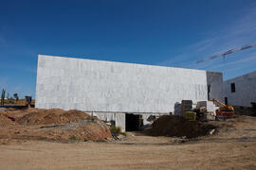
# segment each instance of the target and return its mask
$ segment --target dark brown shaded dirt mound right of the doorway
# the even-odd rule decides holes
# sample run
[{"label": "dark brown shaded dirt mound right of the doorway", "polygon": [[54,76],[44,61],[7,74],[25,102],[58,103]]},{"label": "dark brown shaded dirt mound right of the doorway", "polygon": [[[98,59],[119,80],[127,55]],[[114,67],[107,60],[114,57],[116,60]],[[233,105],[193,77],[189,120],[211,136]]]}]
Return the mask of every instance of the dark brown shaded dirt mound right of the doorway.
[{"label": "dark brown shaded dirt mound right of the doorway", "polygon": [[195,138],[207,135],[213,128],[216,127],[207,123],[192,122],[183,117],[164,115],[156,119],[146,133],[153,136]]}]

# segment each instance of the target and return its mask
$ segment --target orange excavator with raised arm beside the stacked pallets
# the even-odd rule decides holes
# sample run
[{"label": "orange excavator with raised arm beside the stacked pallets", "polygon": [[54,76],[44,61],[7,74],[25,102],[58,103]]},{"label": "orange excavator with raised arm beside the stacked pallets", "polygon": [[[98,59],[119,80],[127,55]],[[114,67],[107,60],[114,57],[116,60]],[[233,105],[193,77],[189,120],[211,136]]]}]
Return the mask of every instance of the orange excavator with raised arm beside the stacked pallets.
[{"label": "orange excavator with raised arm beside the stacked pallets", "polygon": [[217,119],[227,119],[231,118],[234,115],[234,108],[232,106],[225,105],[219,100],[216,100],[214,98],[211,99],[211,101],[219,106],[219,109],[216,111],[216,118]]}]

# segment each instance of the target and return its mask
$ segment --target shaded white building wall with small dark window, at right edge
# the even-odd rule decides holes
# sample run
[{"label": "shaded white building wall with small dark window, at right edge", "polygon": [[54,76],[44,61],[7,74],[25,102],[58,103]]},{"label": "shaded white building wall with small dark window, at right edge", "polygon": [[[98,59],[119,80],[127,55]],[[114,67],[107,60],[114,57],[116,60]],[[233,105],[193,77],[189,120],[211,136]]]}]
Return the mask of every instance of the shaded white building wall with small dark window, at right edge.
[{"label": "shaded white building wall with small dark window, at right edge", "polygon": [[[235,93],[231,93],[231,83],[235,83]],[[250,107],[250,102],[256,102],[256,72],[229,79],[223,87],[224,97],[228,97],[231,106]]]}]

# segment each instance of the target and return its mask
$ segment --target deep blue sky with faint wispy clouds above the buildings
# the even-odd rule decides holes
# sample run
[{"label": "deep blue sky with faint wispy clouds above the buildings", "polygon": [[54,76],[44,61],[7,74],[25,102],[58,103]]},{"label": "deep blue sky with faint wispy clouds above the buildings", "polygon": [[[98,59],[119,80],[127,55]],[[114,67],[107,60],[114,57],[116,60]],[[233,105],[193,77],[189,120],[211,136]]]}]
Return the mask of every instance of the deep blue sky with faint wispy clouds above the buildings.
[{"label": "deep blue sky with faint wispy clouds above the buildings", "polygon": [[223,72],[256,70],[255,0],[0,0],[0,89],[35,95],[37,55]]}]

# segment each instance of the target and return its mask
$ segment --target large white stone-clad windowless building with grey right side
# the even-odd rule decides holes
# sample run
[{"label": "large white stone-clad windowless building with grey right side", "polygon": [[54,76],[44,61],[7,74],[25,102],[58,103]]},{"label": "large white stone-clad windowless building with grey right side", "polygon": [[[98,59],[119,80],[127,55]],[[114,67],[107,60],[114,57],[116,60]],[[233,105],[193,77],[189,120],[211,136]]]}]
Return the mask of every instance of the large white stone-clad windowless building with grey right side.
[{"label": "large white stone-clad windowless building with grey right side", "polygon": [[203,70],[39,55],[35,107],[84,110],[125,130],[135,115],[146,123],[184,99],[222,98],[222,79]]}]

